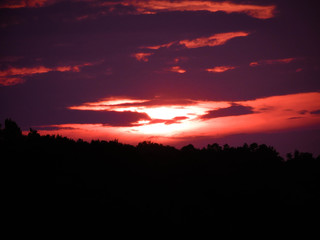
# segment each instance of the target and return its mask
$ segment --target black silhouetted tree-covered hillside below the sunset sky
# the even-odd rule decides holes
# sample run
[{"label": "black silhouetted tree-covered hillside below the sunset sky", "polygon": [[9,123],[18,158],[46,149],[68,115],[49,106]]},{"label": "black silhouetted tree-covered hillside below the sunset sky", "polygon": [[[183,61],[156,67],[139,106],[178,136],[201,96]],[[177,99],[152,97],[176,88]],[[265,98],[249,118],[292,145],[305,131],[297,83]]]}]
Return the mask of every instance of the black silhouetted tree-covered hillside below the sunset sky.
[{"label": "black silhouetted tree-covered hillside below the sunset sky", "polygon": [[157,228],[155,235],[167,228],[225,234],[319,229],[320,157],[310,153],[283,159],[255,143],[178,150],[151,142],[74,141],[32,129],[25,136],[10,119],[0,129],[0,150],[12,223],[56,230],[76,225],[77,231]]}]

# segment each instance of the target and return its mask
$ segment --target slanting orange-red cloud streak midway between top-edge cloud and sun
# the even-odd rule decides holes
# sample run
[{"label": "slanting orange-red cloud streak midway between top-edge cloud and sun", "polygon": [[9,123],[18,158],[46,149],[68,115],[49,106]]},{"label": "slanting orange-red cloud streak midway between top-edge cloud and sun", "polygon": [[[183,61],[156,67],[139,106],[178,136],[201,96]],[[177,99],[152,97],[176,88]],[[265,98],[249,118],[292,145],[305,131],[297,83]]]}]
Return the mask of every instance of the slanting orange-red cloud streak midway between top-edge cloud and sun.
[{"label": "slanting orange-red cloud streak midway between top-edge cloud and sun", "polygon": [[174,41],[166,44],[155,45],[155,46],[147,46],[142,48],[148,49],[159,49],[159,48],[169,48],[171,46],[183,46],[186,48],[200,48],[200,47],[214,47],[224,45],[229,40],[236,38],[236,37],[246,37],[250,33],[248,32],[226,32],[226,33],[217,33],[211,35],[209,37],[201,37],[192,40],[181,40],[181,41]]}]

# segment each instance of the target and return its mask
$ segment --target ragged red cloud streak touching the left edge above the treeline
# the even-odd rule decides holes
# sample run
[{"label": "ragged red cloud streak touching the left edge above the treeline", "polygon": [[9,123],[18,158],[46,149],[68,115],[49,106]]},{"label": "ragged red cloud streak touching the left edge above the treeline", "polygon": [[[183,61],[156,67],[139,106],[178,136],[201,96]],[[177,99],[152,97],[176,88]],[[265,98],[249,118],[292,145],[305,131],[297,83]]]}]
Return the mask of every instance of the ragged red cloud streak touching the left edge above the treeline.
[{"label": "ragged red cloud streak touching the left edge above the treeline", "polygon": [[0,71],[0,85],[2,86],[12,86],[25,82],[23,77],[43,74],[48,72],[79,72],[80,68],[85,66],[91,66],[92,63],[84,63],[74,66],[58,66],[55,68],[48,68],[44,66],[37,66],[31,68],[15,68],[9,67],[8,69]]}]

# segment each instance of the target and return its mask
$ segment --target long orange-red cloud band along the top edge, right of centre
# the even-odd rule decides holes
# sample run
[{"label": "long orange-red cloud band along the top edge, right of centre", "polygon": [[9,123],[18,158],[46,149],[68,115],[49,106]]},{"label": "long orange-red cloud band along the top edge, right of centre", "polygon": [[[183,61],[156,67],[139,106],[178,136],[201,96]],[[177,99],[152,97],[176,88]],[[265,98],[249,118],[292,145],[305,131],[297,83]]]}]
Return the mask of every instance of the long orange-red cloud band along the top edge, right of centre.
[{"label": "long orange-red cloud band along the top edge, right of centre", "polygon": [[122,6],[135,8],[137,14],[155,14],[172,11],[208,11],[225,13],[244,13],[253,18],[269,19],[274,17],[275,5],[239,4],[231,1],[215,2],[208,0],[123,0],[102,2],[100,6]]}]

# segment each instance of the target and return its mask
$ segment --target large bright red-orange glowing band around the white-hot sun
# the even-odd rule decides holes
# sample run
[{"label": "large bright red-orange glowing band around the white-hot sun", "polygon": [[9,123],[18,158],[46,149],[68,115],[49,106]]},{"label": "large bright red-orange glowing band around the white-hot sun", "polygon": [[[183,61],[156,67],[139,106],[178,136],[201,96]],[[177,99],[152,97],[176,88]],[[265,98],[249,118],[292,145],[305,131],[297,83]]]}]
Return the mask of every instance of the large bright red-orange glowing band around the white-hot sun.
[{"label": "large bright red-orange glowing band around the white-hot sun", "polygon": [[[97,102],[72,106],[73,110],[116,111],[145,113],[150,120],[141,120],[130,126],[103,124],[63,124],[61,129],[43,130],[43,134],[62,134],[73,138],[114,139],[137,143],[155,140],[172,143],[196,136],[227,136],[240,133],[266,133],[320,124],[320,93],[299,93],[272,96],[237,102],[186,100],[185,104],[151,104],[152,100],[108,98]],[[243,106],[251,113],[204,118],[210,111]],[[302,114],[303,113],[303,114]]]}]

